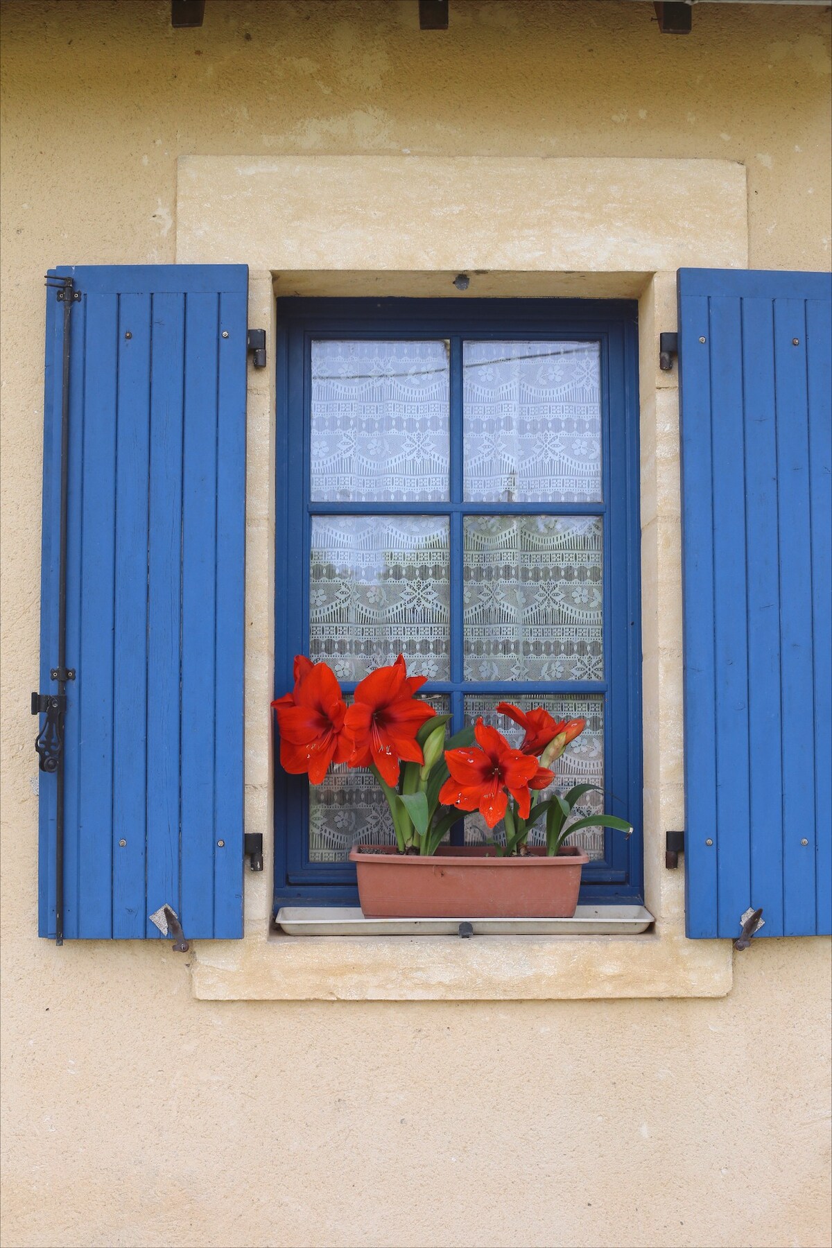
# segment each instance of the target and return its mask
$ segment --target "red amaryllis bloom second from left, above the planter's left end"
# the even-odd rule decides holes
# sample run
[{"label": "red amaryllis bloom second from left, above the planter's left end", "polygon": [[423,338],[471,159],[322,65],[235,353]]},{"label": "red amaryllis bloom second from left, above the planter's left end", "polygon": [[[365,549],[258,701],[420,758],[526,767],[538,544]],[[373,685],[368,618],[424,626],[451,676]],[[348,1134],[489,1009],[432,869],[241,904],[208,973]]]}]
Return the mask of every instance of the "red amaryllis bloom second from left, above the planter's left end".
[{"label": "red amaryllis bloom second from left, above the planter's left end", "polygon": [[374,763],[382,778],[394,787],[399,763],[424,763],[417,733],[435,715],[433,706],[414,698],[427,676],[408,676],[404,658],[389,668],[377,668],[356,686],[346,726],[354,741],[352,768]]}]

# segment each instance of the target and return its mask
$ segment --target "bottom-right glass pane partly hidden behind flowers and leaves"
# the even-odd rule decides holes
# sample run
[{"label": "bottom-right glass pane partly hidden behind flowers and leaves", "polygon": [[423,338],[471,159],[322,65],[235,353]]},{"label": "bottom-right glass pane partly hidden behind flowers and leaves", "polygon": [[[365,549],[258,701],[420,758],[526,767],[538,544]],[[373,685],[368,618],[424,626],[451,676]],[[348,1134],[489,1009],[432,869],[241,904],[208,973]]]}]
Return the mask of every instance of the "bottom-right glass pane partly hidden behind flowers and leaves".
[{"label": "bottom-right glass pane partly hidden behind flowers and leaves", "polygon": [[[596,784],[604,787],[604,698],[601,695],[586,694],[515,694],[505,695],[483,694],[465,698],[465,723],[475,724],[478,718],[493,724],[511,745],[519,748],[523,740],[523,729],[508,719],[498,715],[494,708],[499,701],[510,701],[520,710],[530,710],[533,706],[545,706],[555,719],[585,719],[586,728],[563,753],[555,765],[556,780],[554,790],[546,789],[541,794],[545,801],[553,791],[566,792],[576,784]],[[607,807],[609,809],[609,807]],[[600,815],[604,810],[604,795],[600,792],[588,792],[579,801],[573,812],[570,822],[584,819],[585,815]],[[505,840],[505,829],[498,824],[493,832],[485,825],[485,820],[478,815],[465,817],[465,841],[470,845],[479,845],[484,840]],[[545,845],[545,821],[541,816],[540,825],[535,825],[529,832],[530,845]],[[585,849],[590,859],[604,857],[604,829],[584,827],[575,832],[569,840],[570,845],[580,845]]]}]

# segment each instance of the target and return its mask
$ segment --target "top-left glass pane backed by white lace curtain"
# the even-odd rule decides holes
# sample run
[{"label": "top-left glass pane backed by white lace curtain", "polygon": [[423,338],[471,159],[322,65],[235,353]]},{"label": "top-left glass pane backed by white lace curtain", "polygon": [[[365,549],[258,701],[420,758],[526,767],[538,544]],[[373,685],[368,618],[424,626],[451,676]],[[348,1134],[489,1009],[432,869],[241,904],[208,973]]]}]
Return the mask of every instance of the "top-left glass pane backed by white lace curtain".
[{"label": "top-left glass pane backed by white lace curtain", "polygon": [[448,494],[447,342],[312,343],[312,498]]}]

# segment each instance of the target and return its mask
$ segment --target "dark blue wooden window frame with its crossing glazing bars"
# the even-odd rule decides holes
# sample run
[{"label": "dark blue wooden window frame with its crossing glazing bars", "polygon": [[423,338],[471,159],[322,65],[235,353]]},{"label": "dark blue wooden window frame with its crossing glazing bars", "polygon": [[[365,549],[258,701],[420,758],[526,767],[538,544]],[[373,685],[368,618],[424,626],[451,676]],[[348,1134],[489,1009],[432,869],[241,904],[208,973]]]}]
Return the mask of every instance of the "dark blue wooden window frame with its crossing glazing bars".
[{"label": "dark blue wooden window frame with its crossing glazing bars", "polygon": [[[573,300],[313,300],[278,301],[276,695],[292,686],[292,660],[309,653],[309,560],[313,524],[326,517],[444,518],[449,553],[449,679],[425,695],[444,695],[452,730],[464,723],[464,699],[491,695],[584,695],[602,705],[604,809],[625,815],[634,835],[605,830],[602,849],[584,869],[583,902],[632,902],[642,896],[641,624],[639,590],[637,305]],[[333,342],[437,342],[449,357],[449,497],[433,502],[316,502],[311,489],[312,349]],[[600,497],[590,502],[465,500],[464,343],[596,343],[600,363]],[[469,490],[470,493],[470,490]],[[476,517],[599,519],[602,666],[593,679],[465,680],[463,532]],[[407,654],[407,645],[404,646]],[[419,664],[410,661],[417,673]],[[574,673],[573,673],[574,674]],[[342,679],[347,694],[356,681]],[[276,743],[277,749],[277,743]],[[314,861],[309,852],[309,787],[274,760],[274,901],[357,905],[354,867]],[[454,840],[462,836],[462,827]]]}]

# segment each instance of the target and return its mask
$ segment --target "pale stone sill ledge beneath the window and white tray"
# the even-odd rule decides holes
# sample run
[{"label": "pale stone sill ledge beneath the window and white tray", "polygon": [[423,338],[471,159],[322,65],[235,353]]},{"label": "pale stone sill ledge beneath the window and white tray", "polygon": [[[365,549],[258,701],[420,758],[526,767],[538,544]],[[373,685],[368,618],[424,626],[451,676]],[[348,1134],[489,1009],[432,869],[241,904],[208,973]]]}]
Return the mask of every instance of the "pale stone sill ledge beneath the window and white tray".
[{"label": "pale stone sill ledge beneath the window and white tray", "polygon": [[203,1001],[550,1001],[721,997],[730,941],[640,936],[287,936],[253,924],[242,941],[193,946]]}]

